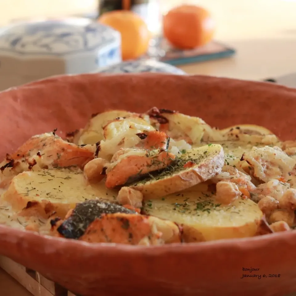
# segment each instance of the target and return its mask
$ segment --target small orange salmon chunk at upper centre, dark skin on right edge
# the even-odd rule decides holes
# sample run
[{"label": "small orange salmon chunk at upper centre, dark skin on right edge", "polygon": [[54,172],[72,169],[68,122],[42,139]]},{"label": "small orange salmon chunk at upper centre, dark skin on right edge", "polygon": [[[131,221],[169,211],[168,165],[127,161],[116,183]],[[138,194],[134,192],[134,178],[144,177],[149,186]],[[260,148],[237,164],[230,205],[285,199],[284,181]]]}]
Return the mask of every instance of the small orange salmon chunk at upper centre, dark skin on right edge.
[{"label": "small orange salmon chunk at upper centre, dark skin on right edge", "polygon": [[136,147],[143,149],[167,150],[170,143],[170,137],[165,132],[159,132],[158,130],[144,131],[143,133],[136,134],[143,141],[139,142]]}]

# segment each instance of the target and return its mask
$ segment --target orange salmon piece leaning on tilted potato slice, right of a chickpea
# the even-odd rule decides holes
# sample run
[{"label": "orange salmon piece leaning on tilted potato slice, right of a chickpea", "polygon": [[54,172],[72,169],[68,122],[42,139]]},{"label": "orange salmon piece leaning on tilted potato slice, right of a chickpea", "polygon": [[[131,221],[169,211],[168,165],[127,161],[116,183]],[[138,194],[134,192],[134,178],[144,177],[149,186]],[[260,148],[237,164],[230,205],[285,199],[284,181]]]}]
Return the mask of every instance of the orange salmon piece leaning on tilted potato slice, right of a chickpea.
[{"label": "orange salmon piece leaning on tilted potato slice, right of a chickpea", "polygon": [[112,164],[105,185],[107,188],[123,185],[135,177],[166,168],[174,159],[175,154],[164,150],[128,149]]}]

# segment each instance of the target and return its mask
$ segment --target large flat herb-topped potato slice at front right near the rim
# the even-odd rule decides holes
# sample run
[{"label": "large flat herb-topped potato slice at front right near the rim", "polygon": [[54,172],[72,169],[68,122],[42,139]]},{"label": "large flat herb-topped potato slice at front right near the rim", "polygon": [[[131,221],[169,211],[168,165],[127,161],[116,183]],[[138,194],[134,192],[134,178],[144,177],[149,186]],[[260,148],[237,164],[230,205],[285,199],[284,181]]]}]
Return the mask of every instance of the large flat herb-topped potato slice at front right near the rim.
[{"label": "large flat herb-topped potato slice at front right near the rim", "polygon": [[144,211],[181,225],[185,242],[254,236],[263,217],[257,204],[250,199],[222,205],[206,191],[182,191],[147,200]]}]

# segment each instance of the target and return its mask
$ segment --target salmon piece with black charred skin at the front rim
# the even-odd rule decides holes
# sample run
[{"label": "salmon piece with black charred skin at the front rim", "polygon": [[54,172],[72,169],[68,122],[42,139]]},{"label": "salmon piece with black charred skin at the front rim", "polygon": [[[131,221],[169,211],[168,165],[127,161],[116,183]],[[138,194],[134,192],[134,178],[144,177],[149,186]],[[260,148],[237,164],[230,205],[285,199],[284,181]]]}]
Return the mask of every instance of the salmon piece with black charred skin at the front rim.
[{"label": "salmon piece with black charred skin at the front rim", "polygon": [[139,215],[132,209],[88,200],[70,210],[65,220],[51,220],[51,235],[91,243],[162,245],[181,241],[179,227],[156,217]]}]

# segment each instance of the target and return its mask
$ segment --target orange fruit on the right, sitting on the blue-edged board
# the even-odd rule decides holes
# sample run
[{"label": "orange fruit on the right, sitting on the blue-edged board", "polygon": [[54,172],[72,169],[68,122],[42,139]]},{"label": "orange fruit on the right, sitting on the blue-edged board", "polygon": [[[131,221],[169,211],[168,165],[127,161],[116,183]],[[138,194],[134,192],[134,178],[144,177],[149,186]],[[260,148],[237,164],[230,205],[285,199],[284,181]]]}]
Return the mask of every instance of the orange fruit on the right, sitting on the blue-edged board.
[{"label": "orange fruit on the right, sitting on the blue-edged board", "polygon": [[192,49],[212,40],[215,23],[210,13],[200,6],[181,5],[163,17],[163,35],[180,49]]}]

